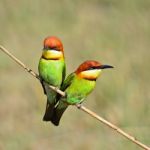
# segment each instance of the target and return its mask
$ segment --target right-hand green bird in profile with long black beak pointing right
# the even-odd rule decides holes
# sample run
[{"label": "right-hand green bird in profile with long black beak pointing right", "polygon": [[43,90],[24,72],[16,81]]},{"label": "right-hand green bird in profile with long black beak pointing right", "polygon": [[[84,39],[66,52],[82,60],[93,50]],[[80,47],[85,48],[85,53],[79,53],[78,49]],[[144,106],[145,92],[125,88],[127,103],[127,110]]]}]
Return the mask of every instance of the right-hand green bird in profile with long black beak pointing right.
[{"label": "right-hand green bird in profile with long black beak pointing right", "polygon": [[66,96],[59,98],[51,118],[51,122],[55,126],[59,125],[60,119],[69,105],[80,104],[85,100],[93,91],[102,70],[107,68],[113,68],[113,66],[103,65],[95,60],[87,60],[65,79],[61,90],[66,93]]}]

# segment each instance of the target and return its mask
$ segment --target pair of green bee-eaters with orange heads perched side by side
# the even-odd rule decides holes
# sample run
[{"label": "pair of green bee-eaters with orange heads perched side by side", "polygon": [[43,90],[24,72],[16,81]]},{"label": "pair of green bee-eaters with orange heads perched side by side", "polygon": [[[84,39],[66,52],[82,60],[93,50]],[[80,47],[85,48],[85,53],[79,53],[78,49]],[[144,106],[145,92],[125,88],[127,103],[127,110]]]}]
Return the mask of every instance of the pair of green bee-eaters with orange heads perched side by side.
[{"label": "pair of green bee-eaters with orange heads perched side by side", "polygon": [[[45,38],[38,66],[44,93],[47,95],[43,120],[51,121],[58,126],[67,107],[81,103],[94,89],[96,79],[101,74],[102,69],[106,68],[113,67],[94,60],[87,60],[65,79],[66,65],[63,44],[57,37]],[[60,88],[66,93],[66,96],[61,97],[47,84],[43,84],[43,81]]]}]

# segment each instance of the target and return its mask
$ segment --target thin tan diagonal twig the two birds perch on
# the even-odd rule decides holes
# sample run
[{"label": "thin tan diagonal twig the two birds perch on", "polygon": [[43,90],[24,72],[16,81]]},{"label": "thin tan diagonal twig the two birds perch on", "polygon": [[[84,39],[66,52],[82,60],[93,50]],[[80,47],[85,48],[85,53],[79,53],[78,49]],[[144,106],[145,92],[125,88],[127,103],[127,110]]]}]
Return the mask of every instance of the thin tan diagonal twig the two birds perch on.
[{"label": "thin tan diagonal twig the two birds perch on", "polygon": [[[6,48],[4,48],[3,46],[0,45],[0,49],[7,54],[10,58],[12,58],[14,61],[16,61],[16,63],[18,63],[21,67],[23,67],[27,72],[29,72],[32,76],[34,76],[35,78],[37,78],[38,80],[40,80],[40,77],[38,74],[36,74],[33,70],[31,70],[30,68],[28,68],[24,63],[22,63],[19,59],[17,59],[14,55],[12,55]],[[46,83],[45,83],[46,84]],[[59,93],[62,96],[65,96],[65,92],[59,90],[57,87],[51,86],[49,85],[49,87],[56,91],[57,93]],[[125,131],[123,131],[122,129],[120,129],[119,127],[115,126],[114,124],[112,124],[111,122],[105,120],[104,118],[100,117],[99,115],[97,115],[96,113],[94,113],[93,111],[91,111],[90,109],[86,108],[85,106],[81,105],[81,104],[76,104],[75,105],[78,109],[84,111],[85,113],[89,114],[90,116],[92,116],[93,118],[97,119],[98,121],[102,122],[104,125],[107,125],[109,128],[115,130],[116,132],[118,132],[120,135],[124,136],[125,138],[127,138],[128,140],[132,141],[133,143],[135,143],[136,145],[138,145],[139,147],[145,149],[145,150],[150,150],[150,147],[141,143],[139,140],[137,140],[135,137],[133,137],[132,135],[129,135],[128,133],[126,133]]]}]

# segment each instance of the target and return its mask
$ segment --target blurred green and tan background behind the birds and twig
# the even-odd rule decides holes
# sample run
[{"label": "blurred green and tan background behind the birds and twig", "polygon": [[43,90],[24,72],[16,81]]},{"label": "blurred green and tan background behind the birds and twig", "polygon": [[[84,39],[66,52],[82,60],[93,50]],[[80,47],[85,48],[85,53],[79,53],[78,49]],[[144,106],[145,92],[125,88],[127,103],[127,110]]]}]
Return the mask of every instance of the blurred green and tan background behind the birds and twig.
[{"label": "blurred green and tan background behind the birds and twig", "polygon": [[[84,60],[104,71],[85,106],[150,145],[149,0],[1,0],[0,44],[37,72],[43,39],[64,43],[67,73]],[[137,150],[70,106],[60,126],[42,121],[41,85],[0,52],[0,150]]]}]

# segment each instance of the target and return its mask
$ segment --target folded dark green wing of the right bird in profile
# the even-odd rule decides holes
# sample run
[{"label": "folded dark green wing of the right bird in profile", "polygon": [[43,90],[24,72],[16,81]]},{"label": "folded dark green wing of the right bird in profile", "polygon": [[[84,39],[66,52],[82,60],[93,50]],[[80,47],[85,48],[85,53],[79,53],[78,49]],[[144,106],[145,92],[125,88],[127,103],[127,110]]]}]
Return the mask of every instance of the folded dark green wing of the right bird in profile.
[{"label": "folded dark green wing of the right bird in profile", "polygon": [[72,83],[73,79],[75,77],[75,73],[71,73],[66,80],[63,82],[62,86],[61,86],[61,90],[65,91],[65,89]]}]

